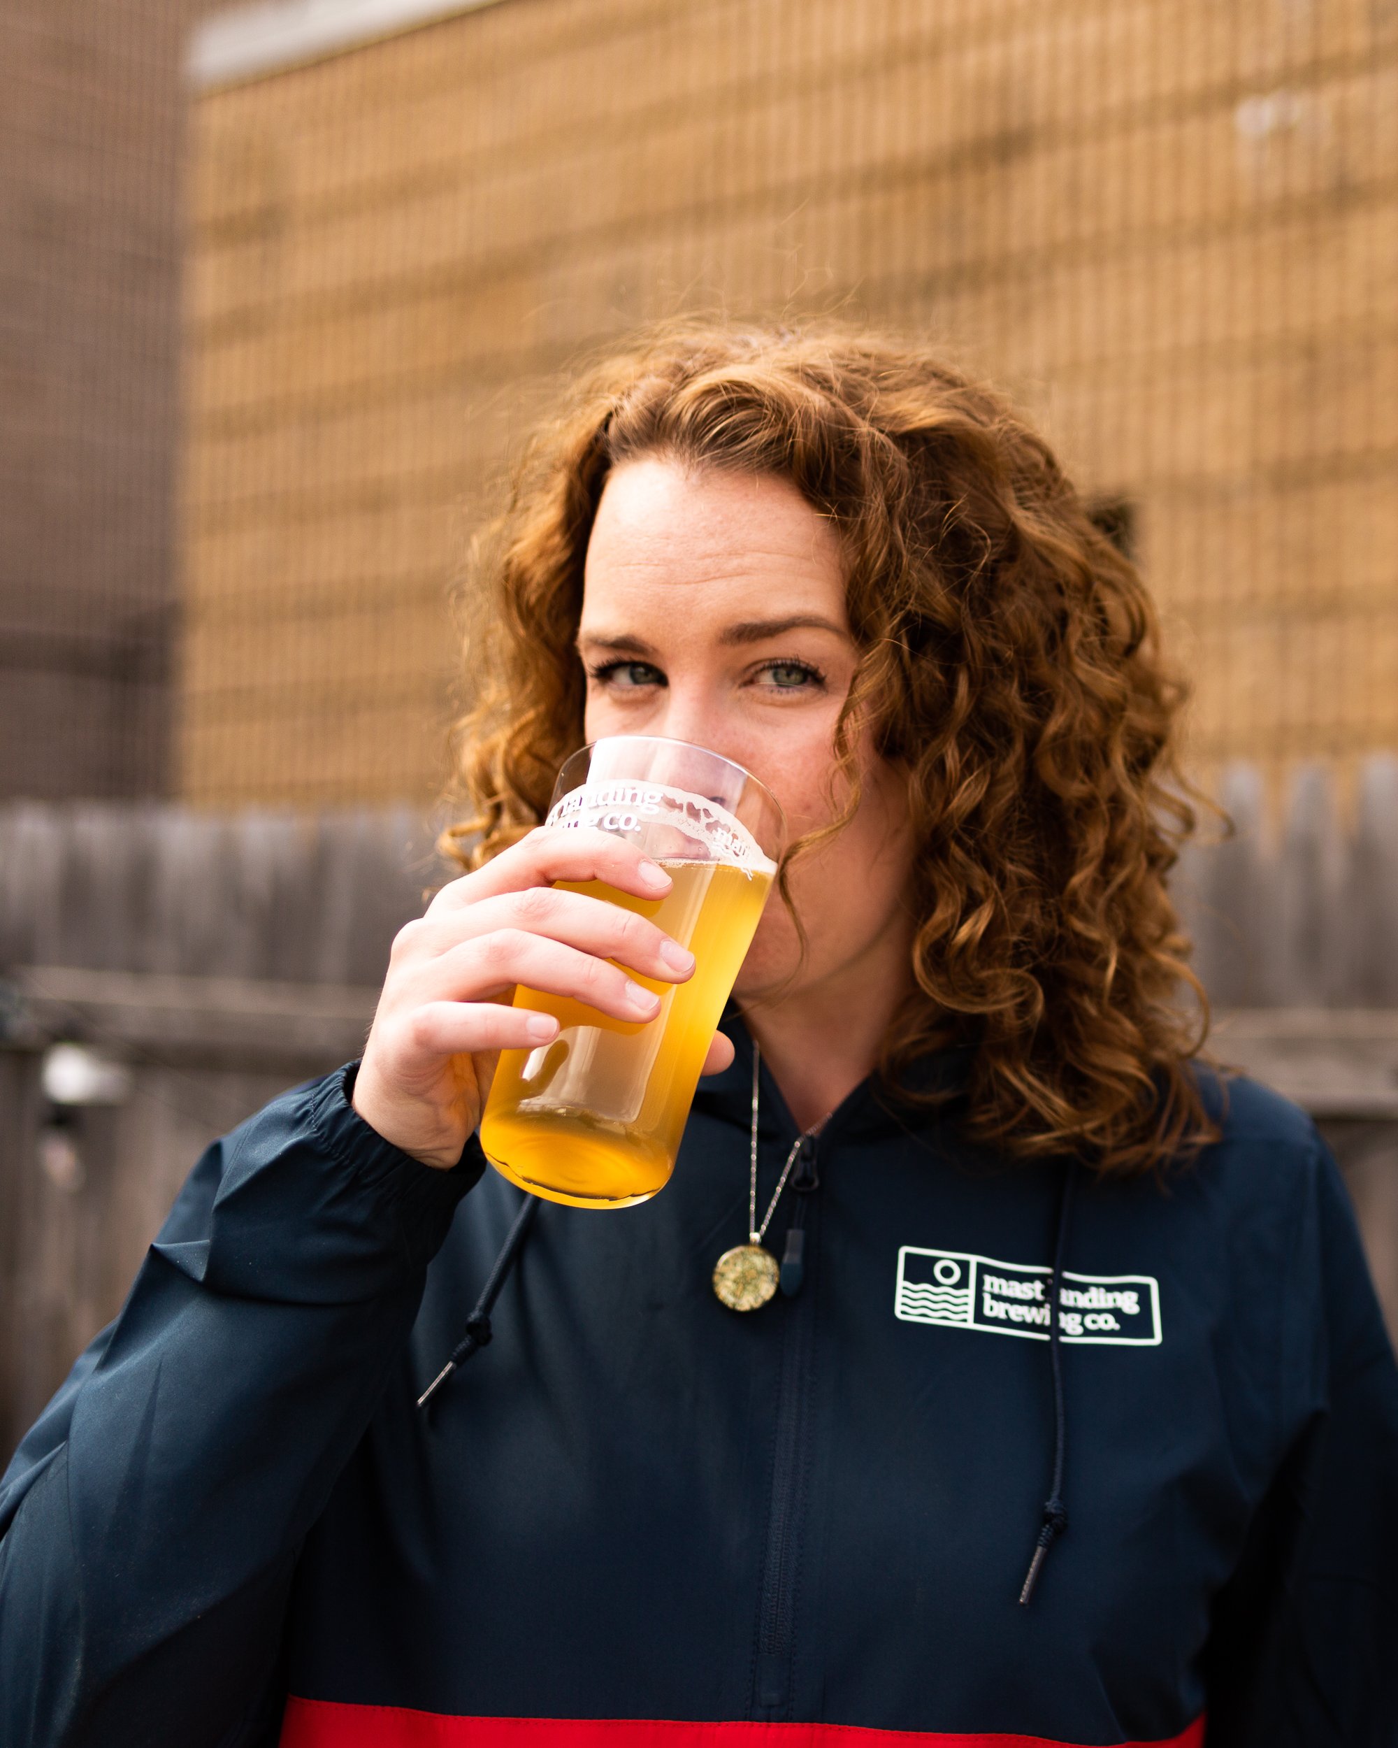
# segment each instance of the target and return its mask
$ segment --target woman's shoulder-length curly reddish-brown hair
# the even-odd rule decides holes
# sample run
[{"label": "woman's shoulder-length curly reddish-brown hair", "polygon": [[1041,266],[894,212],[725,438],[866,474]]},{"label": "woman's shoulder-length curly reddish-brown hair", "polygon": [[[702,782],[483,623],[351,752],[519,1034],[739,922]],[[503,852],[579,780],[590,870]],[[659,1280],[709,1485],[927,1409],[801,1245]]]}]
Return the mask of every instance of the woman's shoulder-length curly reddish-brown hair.
[{"label": "woman's shoulder-length curly reddish-brown hair", "polygon": [[[1146,1169],[1215,1138],[1190,1058],[1208,1005],[1166,876],[1194,829],[1181,683],[1146,589],[1010,404],[916,344],[683,323],[587,371],[529,446],[482,549],[482,690],[458,724],[465,865],[514,843],[582,745],[573,647],[608,472],[643,454],[788,479],[839,528],[853,724],[907,773],[923,895],[893,1087],[970,1042],[966,1133],[1017,1157]],[[474,640],[472,640],[474,642]],[[1190,1019],[1181,986],[1195,996]]]}]

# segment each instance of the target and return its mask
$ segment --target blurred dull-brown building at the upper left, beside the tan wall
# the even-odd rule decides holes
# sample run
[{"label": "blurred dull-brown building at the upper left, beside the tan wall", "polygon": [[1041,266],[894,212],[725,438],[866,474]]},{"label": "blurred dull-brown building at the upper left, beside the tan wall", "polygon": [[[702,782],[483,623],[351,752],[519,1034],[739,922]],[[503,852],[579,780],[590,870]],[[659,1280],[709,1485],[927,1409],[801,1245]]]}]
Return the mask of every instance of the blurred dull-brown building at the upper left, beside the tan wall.
[{"label": "blurred dull-brown building at the upper left, beside the tan wall", "polygon": [[171,778],[199,0],[0,10],[0,797]]}]

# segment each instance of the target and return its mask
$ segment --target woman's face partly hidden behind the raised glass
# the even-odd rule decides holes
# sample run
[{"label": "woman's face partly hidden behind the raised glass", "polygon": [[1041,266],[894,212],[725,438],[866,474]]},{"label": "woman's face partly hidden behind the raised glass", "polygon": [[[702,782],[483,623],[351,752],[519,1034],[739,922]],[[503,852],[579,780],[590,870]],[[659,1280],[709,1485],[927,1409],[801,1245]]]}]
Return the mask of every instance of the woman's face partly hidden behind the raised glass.
[{"label": "woman's face partly hidden behind the raised glass", "polygon": [[[587,545],[578,654],[589,741],[666,734],[709,746],[762,778],[792,837],[834,816],[835,718],[856,649],[839,538],[795,486],[659,456],[615,468]],[[856,745],[858,813],[792,869],[809,951],[783,995],[839,984],[888,956],[889,932],[910,937],[905,787],[867,734]],[[771,902],[737,995],[760,1000],[797,960],[795,928]]]}]

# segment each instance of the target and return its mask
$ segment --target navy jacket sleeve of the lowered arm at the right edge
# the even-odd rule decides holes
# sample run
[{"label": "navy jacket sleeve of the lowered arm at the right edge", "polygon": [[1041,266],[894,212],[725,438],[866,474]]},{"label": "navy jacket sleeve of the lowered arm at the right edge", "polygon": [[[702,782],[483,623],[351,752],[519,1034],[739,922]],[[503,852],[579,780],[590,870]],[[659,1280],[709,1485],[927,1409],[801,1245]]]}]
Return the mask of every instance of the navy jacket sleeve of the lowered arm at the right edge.
[{"label": "navy jacket sleeve of the lowered arm at the right edge", "polygon": [[1286,1454],[1218,1598],[1209,1748],[1398,1745],[1398,1369],[1319,1140],[1274,1283]]}]

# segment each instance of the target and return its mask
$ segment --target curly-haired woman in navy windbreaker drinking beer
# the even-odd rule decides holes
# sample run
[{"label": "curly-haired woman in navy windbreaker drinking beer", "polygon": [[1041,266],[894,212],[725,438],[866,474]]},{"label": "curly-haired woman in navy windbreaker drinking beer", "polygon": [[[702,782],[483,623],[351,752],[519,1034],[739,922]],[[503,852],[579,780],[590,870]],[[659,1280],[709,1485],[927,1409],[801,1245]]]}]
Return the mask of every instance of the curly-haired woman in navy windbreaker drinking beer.
[{"label": "curly-haired woman in navy windbreaker drinking beer", "polygon": [[[1398,1376],[1314,1129],[1190,1061],[1180,694],[1045,446],[914,348],[671,330],[493,579],[470,872],[10,1467],[3,1741],[1391,1743]],[[673,1182],[523,1243],[474,1131],[554,1023],[502,998],[692,970],[549,890],[666,888],[533,830],[615,732],[797,844]],[[788,1267],[736,1314],[750,1131]]]}]

